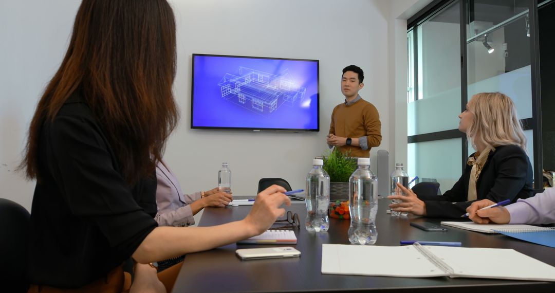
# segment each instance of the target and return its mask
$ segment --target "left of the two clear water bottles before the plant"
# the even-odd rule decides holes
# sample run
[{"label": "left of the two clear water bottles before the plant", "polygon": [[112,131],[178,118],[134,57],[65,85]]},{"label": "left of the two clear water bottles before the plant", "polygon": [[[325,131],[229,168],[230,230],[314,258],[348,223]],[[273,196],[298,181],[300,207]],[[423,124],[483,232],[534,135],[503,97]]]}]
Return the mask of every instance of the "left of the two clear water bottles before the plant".
[{"label": "left of the two clear water bottles before the plant", "polygon": [[330,219],[327,209],[330,206],[330,175],[322,169],[324,161],[312,160],[314,167],[306,175],[306,222],[307,231],[327,231]]}]

